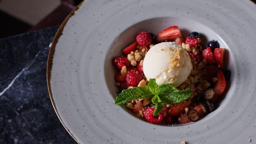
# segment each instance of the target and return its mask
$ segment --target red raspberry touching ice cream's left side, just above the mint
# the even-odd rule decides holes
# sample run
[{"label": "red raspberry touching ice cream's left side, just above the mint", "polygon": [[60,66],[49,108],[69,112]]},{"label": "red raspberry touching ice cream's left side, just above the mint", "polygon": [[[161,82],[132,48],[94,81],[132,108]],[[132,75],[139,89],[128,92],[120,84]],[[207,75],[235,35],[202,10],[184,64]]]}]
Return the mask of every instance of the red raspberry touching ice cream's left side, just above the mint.
[{"label": "red raspberry touching ice cream's left side, just above the mint", "polygon": [[135,70],[130,70],[126,73],[126,83],[128,86],[138,86],[142,78],[142,74]]}]

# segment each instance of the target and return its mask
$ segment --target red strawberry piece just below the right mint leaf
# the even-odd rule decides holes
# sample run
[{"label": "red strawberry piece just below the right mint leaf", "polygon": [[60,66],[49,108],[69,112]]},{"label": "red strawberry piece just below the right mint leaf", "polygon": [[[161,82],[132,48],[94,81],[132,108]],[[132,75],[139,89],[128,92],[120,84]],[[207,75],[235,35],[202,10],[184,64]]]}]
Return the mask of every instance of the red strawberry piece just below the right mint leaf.
[{"label": "red strawberry piece just below the right mint leaf", "polygon": [[170,107],[170,114],[172,116],[180,116],[181,114],[185,113],[185,108],[189,106],[188,101],[183,100],[176,104],[172,104]]}]

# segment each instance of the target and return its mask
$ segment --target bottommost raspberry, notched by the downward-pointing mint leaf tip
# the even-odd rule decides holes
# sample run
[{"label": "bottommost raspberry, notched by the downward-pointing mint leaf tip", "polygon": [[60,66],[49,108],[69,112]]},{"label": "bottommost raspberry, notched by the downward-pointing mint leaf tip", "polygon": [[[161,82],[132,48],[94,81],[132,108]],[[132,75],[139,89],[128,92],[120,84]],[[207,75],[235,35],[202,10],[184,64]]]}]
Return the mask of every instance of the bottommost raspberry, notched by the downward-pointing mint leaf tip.
[{"label": "bottommost raspberry, notched by the downward-pointing mint leaf tip", "polygon": [[155,108],[153,107],[146,109],[144,116],[148,122],[153,124],[159,124],[162,122],[164,114],[160,112],[157,116],[153,116],[154,110]]}]

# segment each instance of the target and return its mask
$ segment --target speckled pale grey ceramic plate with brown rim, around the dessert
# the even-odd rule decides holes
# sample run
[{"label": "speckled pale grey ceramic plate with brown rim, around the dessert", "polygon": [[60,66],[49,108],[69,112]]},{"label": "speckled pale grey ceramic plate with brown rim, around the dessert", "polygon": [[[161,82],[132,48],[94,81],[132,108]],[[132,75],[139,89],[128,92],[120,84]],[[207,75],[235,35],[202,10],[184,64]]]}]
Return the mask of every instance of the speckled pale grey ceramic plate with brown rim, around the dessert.
[{"label": "speckled pale grey ceramic plate with brown rim, around the dessert", "polygon": [[[60,121],[78,143],[246,144],[256,141],[256,5],[250,0],[86,0],[52,43],[47,82]],[[178,126],[144,122],[114,105],[112,58],[142,30],[177,25],[228,51],[232,75],[218,108]]]}]

